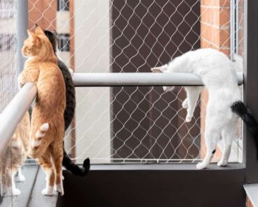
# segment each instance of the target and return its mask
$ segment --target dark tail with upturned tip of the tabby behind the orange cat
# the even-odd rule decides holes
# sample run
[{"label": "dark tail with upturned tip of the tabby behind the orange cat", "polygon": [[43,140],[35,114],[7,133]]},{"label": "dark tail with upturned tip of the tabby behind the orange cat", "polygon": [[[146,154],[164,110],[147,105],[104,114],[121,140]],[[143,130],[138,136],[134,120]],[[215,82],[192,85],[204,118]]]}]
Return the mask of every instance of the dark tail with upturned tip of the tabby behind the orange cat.
[{"label": "dark tail with upturned tip of the tabby behind the orange cat", "polygon": [[75,176],[86,176],[89,173],[91,167],[89,158],[86,158],[82,164],[82,167],[79,167],[77,164],[73,163],[70,160],[69,156],[66,154],[66,151],[63,151],[63,167],[66,167],[71,173]]}]

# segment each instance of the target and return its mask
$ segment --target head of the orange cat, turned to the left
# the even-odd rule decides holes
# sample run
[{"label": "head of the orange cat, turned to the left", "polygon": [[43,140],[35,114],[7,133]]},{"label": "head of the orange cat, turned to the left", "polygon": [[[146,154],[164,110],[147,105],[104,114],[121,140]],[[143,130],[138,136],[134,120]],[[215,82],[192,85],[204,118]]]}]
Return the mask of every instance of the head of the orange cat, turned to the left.
[{"label": "head of the orange cat, turned to the left", "polygon": [[35,33],[28,30],[28,35],[29,37],[24,40],[22,47],[23,56],[46,56],[51,54],[52,45],[45,36],[43,29],[37,26]]}]

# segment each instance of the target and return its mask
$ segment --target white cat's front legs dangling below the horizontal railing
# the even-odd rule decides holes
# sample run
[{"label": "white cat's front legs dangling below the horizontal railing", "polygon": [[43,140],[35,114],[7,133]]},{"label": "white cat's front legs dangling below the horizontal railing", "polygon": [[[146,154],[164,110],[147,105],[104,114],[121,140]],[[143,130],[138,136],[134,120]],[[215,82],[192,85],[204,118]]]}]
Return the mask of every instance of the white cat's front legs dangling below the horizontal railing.
[{"label": "white cat's front legs dangling below the horizontal railing", "polygon": [[187,98],[183,101],[183,108],[187,108],[187,115],[185,122],[190,122],[192,116],[195,112],[195,107],[197,105],[197,100],[199,98],[199,93],[201,93],[203,86],[188,86],[185,87]]}]

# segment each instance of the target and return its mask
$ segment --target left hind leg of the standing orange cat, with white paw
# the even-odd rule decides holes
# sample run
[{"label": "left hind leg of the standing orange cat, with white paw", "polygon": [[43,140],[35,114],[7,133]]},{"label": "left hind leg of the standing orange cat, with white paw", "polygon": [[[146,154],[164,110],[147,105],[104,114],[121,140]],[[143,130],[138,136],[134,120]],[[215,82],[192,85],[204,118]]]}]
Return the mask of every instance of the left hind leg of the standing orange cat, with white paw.
[{"label": "left hind leg of the standing orange cat, with white paw", "polygon": [[54,193],[55,171],[51,161],[51,153],[48,148],[45,153],[38,158],[38,164],[40,164],[40,167],[42,167],[45,172],[47,180],[46,187],[42,190],[42,194],[50,196]]}]

